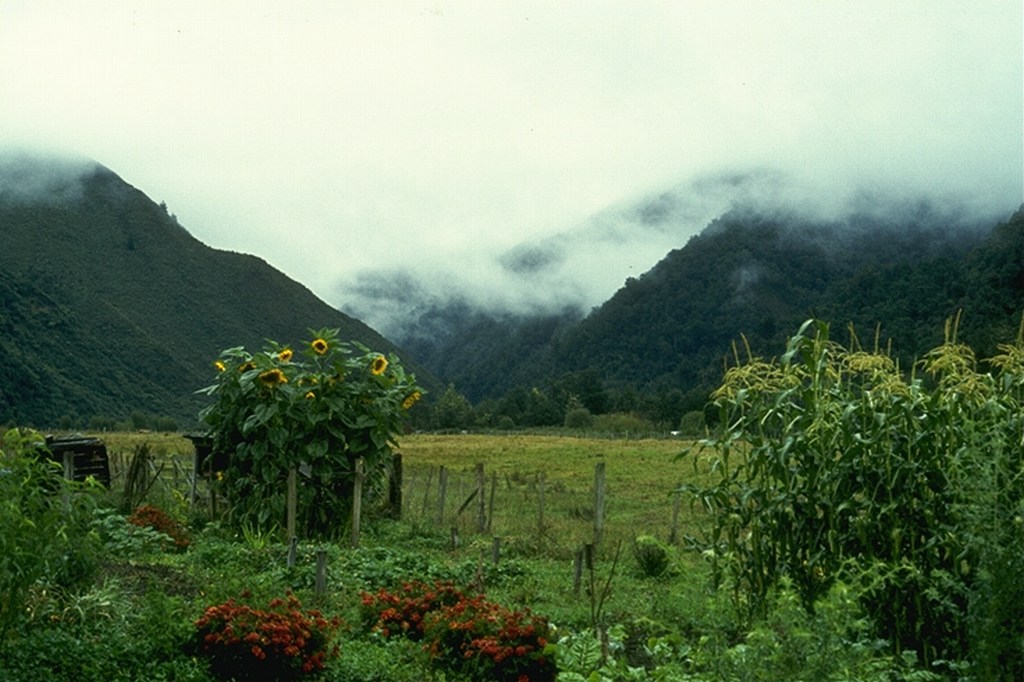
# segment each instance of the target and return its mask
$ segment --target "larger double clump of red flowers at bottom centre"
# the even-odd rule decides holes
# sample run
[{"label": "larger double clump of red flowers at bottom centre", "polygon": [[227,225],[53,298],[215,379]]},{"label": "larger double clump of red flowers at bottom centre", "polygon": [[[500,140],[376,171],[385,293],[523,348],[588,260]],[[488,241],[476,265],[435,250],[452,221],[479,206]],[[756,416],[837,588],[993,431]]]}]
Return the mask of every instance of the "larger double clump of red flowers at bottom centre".
[{"label": "larger double clump of red flowers at bottom centre", "polygon": [[382,635],[423,640],[436,665],[473,679],[538,682],[557,675],[545,654],[548,622],[528,609],[469,597],[447,583],[364,594],[362,605],[365,620]]}]

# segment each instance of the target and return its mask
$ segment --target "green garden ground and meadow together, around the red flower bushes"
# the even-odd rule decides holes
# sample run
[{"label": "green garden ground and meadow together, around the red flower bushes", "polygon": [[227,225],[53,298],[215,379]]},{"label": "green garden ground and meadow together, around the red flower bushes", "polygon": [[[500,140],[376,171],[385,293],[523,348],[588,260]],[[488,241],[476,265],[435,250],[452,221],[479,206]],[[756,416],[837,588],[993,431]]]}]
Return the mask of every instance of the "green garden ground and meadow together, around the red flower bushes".
[{"label": "green garden ground and meadow together, around the red flower bushes", "polygon": [[[0,642],[0,679],[227,679],[214,677],[216,669],[197,653],[196,622],[228,599],[266,605],[288,593],[304,607],[341,619],[340,654],[327,659],[326,680],[896,680],[914,672],[912,663],[885,654],[842,592],[810,615],[783,590],[767,623],[740,622],[728,600],[709,590],[702,562],[665,543],[673,491],[691,472],[674,459],[685,444],[679,440],[409,435],[399,449],[402,518],[381,518],[370,505],[358,548],[344,537],[300,541],[290,567],[282,534],[232,530],[211,519],[202,483],[200,501],[189,504],[188,440],[157,433],[103,438],[115,482],[94,512],[91,568],[83,566],[78,581],[33,590],[25,619]],[[143,445],[154,457],[152,470],[161,472],[143,502],[180,523],[186,549],[138,534],[124,520],[126,512],[115,511],[126,464]],[[593,540],[598,462],[606,473],[604,536],[593,564],[578,570],[573,559]],[[490,523],[483,531],[475,501],[456,516],[474,489],[479,463]],[[442,516],[441,465],[450,472],[451,496]],[[689,505],[681,505],[679,535],[693,530],[695,521]],[[662,541],[654,561],[634,551],[634,539],[648,535]],[[318,554],[326,558],[323,590],[316,589]],[[543,616],[551,626],[547,668],[496,677],[498,668],[459,663],[443,648],[438,653],[436,644],[427,650],[414,639],[382,636],[368,620],[365,595],[394,593],[416,581],[451,582],[515,617]]]}]

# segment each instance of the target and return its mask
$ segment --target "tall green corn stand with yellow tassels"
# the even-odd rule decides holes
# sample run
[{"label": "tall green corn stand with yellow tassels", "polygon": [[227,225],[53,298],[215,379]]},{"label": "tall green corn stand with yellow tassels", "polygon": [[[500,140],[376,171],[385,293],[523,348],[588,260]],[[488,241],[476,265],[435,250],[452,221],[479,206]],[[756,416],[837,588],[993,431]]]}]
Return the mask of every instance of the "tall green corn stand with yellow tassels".
[{"label": "tall green corn stand with yellow tassels", "polygon": [[809,321],[777,360],[727,371],[721,432],[684,454],[713,473],[685,486],[709,512],[688,541],[746,616],[782,579],[813,610],[845,576],[896,652],[994,646],[1020,670],[1024,341],[1001,349],[979,372],[950,324],[907,374]]}]

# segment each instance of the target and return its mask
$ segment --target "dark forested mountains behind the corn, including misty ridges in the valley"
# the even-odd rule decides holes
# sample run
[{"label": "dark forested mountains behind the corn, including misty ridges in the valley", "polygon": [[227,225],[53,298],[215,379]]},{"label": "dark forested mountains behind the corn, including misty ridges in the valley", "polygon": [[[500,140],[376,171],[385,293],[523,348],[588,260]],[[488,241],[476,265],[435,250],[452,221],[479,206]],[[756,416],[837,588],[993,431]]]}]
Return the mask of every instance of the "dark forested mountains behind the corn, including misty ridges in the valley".
[{"label": "dark forested mountains behind the corn, including misty ridges in the valley", "polygon": [[818,317],[842,341],[852,329],[870,346],[878,333],[909,368],[961,309],[961,339],[982,355],[1015,337],[1024,211],[993,226],[928,204],[831,221],[736,210],[579,322],[439,309],[459,331],[414,352],[472,400],[497,400],[499,413],[524,387],[559,401],[566,385],[596,377],[604,392],[587,407],[630,410],[646,396],[648,416],[671,423],[700,409],[734,342],[744,355],[743,339],[776,355]]}]

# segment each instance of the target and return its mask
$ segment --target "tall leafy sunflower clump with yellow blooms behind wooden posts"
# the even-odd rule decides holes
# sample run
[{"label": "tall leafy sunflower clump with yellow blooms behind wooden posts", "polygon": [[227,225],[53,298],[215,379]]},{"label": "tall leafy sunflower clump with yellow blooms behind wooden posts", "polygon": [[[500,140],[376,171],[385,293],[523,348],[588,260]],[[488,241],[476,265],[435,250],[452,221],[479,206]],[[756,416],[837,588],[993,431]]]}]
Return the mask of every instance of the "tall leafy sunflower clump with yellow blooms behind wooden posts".
[{"label": "tall leafy sunflower clump with yellow blooms behind wooden posts", "polygon": [[298,347],[267,341],[228,348],[213,363],[213,398],[200,417],[227,468],[217,485],[230,518],[267,529],[285,518],[286,481],[299,475],[299,527],[335,535],[348,514],[357,460],[381,487],[410,408],[423,389],[393,354],[310,330]]}]

